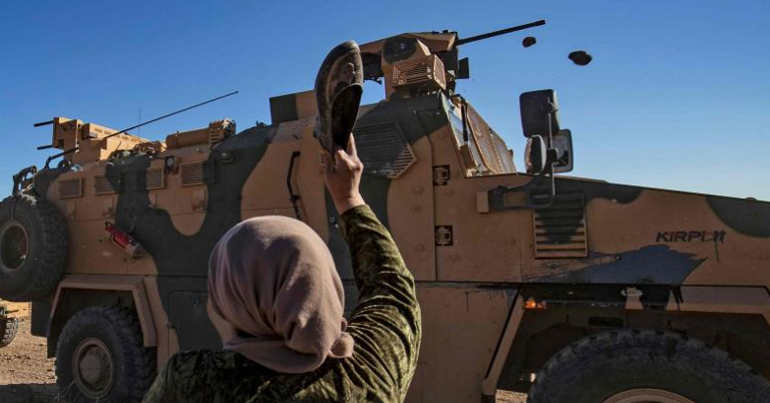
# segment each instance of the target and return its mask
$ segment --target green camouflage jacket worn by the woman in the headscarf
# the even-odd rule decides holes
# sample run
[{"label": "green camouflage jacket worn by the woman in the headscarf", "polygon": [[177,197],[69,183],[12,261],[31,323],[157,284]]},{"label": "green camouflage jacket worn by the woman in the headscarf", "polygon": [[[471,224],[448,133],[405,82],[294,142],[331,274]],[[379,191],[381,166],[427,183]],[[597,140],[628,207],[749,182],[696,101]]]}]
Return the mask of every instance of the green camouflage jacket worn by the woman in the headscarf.
[{"label": "green camouflage jacket worn by the woman in the headscarf", "polygon": [[342,214],[359,302],[347,331],[353,356],[305,374],[279,374],[232,351],[187,351],[168,361],[144,402],[403,401],[422,334],[414,278],[368,206]]}]

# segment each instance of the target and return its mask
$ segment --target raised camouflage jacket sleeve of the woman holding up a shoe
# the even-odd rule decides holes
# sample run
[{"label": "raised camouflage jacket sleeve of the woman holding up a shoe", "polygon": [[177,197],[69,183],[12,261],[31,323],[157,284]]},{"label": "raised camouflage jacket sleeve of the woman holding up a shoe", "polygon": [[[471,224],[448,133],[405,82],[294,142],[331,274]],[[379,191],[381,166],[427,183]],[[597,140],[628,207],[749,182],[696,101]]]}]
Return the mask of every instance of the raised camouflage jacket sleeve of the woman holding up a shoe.
[{"label": "raised camouflage jacket sleeve of the woman holding up a shoe", "polygon": [[414,277],[369,206],[350,209],[340,218],[359,291],[348,326],[354,354],[370,371],[375,389],[396,389],[403,400],[422,337]]}]

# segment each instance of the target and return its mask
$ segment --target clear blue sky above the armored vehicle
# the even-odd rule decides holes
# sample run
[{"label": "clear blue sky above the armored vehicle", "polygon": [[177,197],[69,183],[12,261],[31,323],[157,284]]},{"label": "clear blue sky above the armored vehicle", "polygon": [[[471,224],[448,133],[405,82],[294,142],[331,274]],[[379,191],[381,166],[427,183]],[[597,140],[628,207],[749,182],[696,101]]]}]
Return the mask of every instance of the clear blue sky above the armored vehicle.
[{"label": "clear blue sky above the armored vehicle", "polygon": [[[729,4],[729,7],[727,6]],[[53,116],[113,128],[238,89],[141,129],[161,139],[230,117],[270,121],[268,97],[311,89],[338,42],[410,31],[460,36],[547,25],[461,48],[458,90],[523,167],[518,94],[554,88],[574,175],[770,200],[770,2],[4,1],[0,6],[0,193],[51,150]],[[526,35],[538,43],[523,48]],[[578,67],[567,54],[594,57]],[[367,84],[364,99],[382,98]]]}]

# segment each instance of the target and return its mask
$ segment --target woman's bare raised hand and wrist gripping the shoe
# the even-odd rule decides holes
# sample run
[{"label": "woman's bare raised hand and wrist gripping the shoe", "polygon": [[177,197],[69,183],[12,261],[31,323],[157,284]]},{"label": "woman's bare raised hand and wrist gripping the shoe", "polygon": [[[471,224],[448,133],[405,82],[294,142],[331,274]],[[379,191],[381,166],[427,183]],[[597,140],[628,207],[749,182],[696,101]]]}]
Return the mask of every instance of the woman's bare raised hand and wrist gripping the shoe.
[{"label": "woman's bare raised hand and wrist gripping the shoe", "polygon": [[322,151],[321,167],[326,188],[329,189],[337,212],[342,214],[353,207],[365,204],[358,190],[364,164],[358,159],[356,141],[349,136],[347,150],[341,148],[334,155]]}]

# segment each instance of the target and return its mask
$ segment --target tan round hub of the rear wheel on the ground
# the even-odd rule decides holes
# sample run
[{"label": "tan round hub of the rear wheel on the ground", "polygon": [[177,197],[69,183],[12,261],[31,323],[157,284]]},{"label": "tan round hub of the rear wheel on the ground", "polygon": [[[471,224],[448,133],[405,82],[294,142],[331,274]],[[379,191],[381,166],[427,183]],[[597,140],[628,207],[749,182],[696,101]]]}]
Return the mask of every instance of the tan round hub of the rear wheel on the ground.
[{"label": "tan round hub of the rear wheel on the ground", "polygon": [[112,389],[113,360],[101,340],[88,338],[75,348],[72,373],[78,388],[90,399],[106,396]]}]

